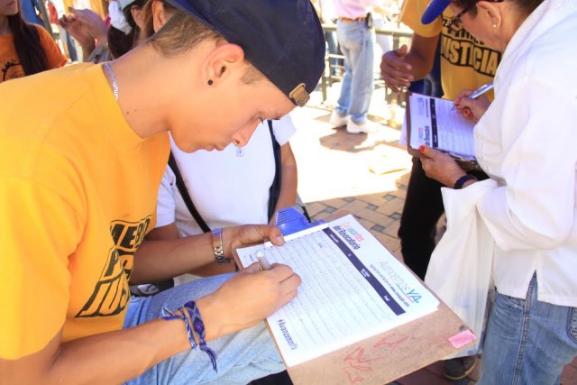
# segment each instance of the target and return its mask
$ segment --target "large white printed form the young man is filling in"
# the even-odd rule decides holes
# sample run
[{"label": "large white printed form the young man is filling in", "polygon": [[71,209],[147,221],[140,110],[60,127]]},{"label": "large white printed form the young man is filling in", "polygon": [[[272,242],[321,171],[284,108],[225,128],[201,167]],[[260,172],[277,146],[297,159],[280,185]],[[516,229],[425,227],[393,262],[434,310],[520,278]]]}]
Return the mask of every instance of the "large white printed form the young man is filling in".
[{"label": "large white printed form the young man is filling in", "polygon": [[264,252],[302,279],[298,295],[267,318],[288,366],[426,316],[438,300],[353,215],[283,246],[238,249],[248,266]]}]

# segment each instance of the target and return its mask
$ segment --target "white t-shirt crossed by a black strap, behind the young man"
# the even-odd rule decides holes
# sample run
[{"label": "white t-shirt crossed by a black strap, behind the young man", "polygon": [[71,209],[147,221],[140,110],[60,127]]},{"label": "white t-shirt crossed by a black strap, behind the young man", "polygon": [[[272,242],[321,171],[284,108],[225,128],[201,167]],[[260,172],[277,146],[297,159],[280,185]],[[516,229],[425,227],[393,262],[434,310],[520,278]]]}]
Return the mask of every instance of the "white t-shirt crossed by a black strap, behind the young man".
[{"label": "white t-shirt crossed by a black strap, behind the young man", "polygon": [[[272,121],[272,127],[281,146],[296,132],[289,115]],[[208,227],[269,223],[269,188],[275,175],[275,161],[267,122],[257,126],[242,148],[231,144],[224,151],[187,153],[180,151],[172,138],[170,148],[188,194]],[[175,222],[181,237],[203,233],[167,166],[159,188],[156,226]]]}]

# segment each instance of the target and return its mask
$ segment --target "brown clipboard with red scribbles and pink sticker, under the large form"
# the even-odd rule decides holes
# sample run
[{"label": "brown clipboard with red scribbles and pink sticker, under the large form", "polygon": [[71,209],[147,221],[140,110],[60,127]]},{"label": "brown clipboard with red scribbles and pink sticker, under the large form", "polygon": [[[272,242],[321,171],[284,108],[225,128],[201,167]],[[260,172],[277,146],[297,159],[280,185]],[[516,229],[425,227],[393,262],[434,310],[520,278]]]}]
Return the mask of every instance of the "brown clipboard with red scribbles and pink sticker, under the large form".
[{"label": "brown clipboard with red scribbles and pink sticker, under the large form", "polygon": [[[343,214],[346,213],[335,213],[334,217],[342,217]],[[297,215],[291,213],[289,216],[296,221]],[[308,227],[301,231],[308,231]],[[382,385],[472,344],[476,337],[470,328],[435,293],[428,290],[439,303],[434,312],[311,360],[286,365],[293,383]],[[269,322],[266,324],[273,335]],[[273,340],[279,349],[277,340]],[[279,349],[279,352],[282,351]],[[286,363],[284,357],[283,361]]]}]

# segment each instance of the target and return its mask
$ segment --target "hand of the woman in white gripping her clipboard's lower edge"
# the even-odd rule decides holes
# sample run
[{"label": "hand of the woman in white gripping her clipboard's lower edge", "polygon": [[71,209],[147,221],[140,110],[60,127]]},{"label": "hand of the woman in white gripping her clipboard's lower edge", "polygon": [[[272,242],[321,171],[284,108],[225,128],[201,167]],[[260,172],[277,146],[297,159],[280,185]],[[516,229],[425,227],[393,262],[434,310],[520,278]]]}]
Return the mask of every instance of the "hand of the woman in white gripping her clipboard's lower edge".
[{"label": "hand of the woman in white gripping her clipboard's lower edge", "polygon": [[418,151],[426,176],[446,187],[453,188],[454,182],[467,174],[451,155],[426,146],[420,146]]}]

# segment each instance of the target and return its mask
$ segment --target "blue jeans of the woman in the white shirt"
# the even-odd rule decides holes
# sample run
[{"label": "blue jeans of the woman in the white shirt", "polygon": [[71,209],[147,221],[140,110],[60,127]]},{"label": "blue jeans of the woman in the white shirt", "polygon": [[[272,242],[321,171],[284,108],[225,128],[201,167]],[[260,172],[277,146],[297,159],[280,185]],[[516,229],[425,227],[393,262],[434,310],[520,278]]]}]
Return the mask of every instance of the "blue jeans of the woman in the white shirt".
[{"label": "blue jeans of the woman in the white shirt", "polygon": [[577,355],[577,308],[537,301],[535,275],[527,299],[495,294],[478,384],[558,384]]}]

